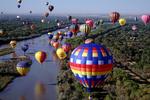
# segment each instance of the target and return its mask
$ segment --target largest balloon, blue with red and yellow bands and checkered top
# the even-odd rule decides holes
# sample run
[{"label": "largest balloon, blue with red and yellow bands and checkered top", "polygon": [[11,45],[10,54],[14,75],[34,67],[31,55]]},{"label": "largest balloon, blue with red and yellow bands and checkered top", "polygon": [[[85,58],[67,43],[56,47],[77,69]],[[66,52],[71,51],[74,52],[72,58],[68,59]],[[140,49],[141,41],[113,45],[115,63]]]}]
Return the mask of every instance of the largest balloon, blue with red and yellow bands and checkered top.
[{"label": "largest balloon, blue with red and yellow bands and checkered top", "polygon": [[105,81],[112,67],[113,58],[102,45],[82,44],[71,53],[70,68],[88,92],[92,92]]}]

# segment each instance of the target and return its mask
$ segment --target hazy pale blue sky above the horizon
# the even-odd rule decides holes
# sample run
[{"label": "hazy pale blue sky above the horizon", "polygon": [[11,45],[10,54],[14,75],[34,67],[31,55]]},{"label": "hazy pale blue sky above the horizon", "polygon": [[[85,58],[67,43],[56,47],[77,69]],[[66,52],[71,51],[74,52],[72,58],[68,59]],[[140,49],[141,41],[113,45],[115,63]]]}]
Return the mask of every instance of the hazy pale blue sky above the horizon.
[{"label": "hazy pale blue sky above the horizon", "polygon": [[150,14],[150,0],[23,0],[17,8],[17,0],[0,0],[0,12],[7,14],[34,14],[48,11],[45,2],[55,6],[52,14]]}]

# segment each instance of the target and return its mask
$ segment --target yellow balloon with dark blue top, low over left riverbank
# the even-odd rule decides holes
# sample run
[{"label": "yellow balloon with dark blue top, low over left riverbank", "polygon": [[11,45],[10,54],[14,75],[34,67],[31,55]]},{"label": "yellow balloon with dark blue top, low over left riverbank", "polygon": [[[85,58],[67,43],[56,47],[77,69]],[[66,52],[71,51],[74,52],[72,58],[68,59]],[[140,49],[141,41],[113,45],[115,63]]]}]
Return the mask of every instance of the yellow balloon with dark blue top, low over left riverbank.
[{"label": "yellow balloon with dark blue top, low over left riverbank", "polygon": [[20,75],[24,76],[30,71],[30,66],[31,64],[29,61],[20,61],[18,62],[16,69]]}]

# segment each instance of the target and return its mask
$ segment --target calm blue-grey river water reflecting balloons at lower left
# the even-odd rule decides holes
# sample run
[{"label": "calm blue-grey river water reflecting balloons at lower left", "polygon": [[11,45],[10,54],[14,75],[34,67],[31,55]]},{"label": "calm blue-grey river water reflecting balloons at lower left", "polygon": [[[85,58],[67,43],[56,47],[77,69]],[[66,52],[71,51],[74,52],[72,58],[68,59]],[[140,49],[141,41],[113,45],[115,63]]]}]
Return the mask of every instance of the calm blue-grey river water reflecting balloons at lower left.
[{"label": "calm blue-grey river water reflecting balloons at lower left", "polygon": [[[45,94],[42,100],[57,100],[56,83],[59,72],[59,61],[55,61],[52,56],[53,48],[48,43],[47,35],[41,37],[25,40],[17,43],[15,48],[17,56],[23,55],[21,45],[28,43],[29,49],[26,55],[32,58],[33,64],[30,72],[24,77],[18,77],[10,83],[4,91],[0,92],[0,100],[19,100],[24,96],[25,100],[35,100],[35,85],[41,82],[45,87]],[[8,47],[3,45],[0,48]],[[38,50],[43,50],[48,57],[43,64],[39,64],[35,58],[34,53]],[[0,59],[11,58],[12,54],[0,57]]]}]

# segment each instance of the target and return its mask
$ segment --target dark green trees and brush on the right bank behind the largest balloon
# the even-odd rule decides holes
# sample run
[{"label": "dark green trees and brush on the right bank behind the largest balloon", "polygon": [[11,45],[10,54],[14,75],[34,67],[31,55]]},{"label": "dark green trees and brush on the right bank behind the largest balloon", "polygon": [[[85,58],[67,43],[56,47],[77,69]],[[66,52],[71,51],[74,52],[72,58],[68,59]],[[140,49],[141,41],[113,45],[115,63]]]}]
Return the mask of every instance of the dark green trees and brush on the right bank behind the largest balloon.
[{"label": "dark green trees and brush on the right bank behind the largest balloon", "polygon": [[[97,44],[110,48],[114,68],[106,82],[92,92],[93,100],[149,100],[150,99],[150,25],[136,23],[138,30],[126,26],[103,25],[88,35]],[[107,27],[107,28],[106,28]],[[84,43],[83,36],[67,39],[73,49]],[[58,100],[87,100],[89,94],[75,79],[69,59],[61,61],[58,75]]]}]

